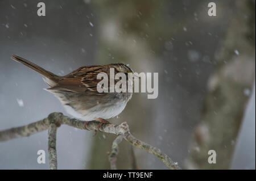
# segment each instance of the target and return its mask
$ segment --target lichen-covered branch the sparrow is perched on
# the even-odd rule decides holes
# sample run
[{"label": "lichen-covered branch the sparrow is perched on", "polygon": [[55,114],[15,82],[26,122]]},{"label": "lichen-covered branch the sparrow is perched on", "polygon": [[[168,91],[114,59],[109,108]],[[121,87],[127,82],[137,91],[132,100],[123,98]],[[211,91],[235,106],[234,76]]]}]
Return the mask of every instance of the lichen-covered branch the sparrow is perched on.
[{"label": "lichen-covered branch the sparrow is perched on", "polygon": [[[79,129],[87,129],[92,131],[101,131],[105,133],[116,134],[118,135],[118,137],[113,143],[113,145],[116,144],[115,146],[113,146],[115,147],[115,149],[117,149],[117,145],[119,144],[119,142],[122,141],[122,138],[124,138],[126,141],[130,142],[131,145],[136,146],[137,148],[140,148],[142,150],[146,150],[148,153],[156,155],[156,157],[158,157],[170,169],[180,169],[180,167],[177,166],[177,163],[172,161],[171,158],[169,158],[166,154],[162,153],[162,151],[160,151],[158,148],[148,145],[145,142],[135,138],[130,133],[129,126],[126,122],[119,125],[102,124],[98,128],[100,122],[89,121],[89,123],[86,124],[85,128],[85,121],[71,119],[68,116],[64,116],[63,113],[60,112],[53,112],[47,118],[36,121],[35,123],[24,125],[23,127],[11,128],[0,131],[0,141],[6,141],[12,138],[18,138],[23,136],[30,136],[31,134],[49,129],[48,151],[50,159],[50,169],[57,169],[56,131],[57,127],[59,127],[61,124],[66,124]],[[117,155],[117,151],[115,150],[115,155]]]}]

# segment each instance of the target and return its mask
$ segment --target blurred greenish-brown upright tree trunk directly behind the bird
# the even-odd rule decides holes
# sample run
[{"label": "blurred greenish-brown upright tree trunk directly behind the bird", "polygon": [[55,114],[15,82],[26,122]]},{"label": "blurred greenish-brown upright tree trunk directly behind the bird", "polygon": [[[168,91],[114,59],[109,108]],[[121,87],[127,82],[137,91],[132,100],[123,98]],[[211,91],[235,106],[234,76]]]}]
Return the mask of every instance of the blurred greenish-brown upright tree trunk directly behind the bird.
[{"label": "blurred greenish-brown upright tree trunk directly behind the bird", "polygon": [[[138,73],[154,72],[154,58],[162,49],[159,36],[166,36],[163,19],[158,10],[165,1],[97,1],[93,2],[99,19],[97,55],[98,64],[123,62]],[[157,12],[157,13],[156,13]],[[157,15],[156,15],[157,14]],[[150,27],[150,28],[149,28]],[[154,51],[153,51],[154,50]],[[150,129],[151,106],[146,102],[146,94],[134,94],[125,111],[119,115],[118,124],[127,121],[134,136],[147,141],[146,130]],[[147,110],[147,111],[146,111]],[[144,112],[144,113],[143,113]],[[117,121],[110,120],[112,123]],[[92,140],[88,169],[110,169],[107,152],[110,151],[114,136],[102,138],[101,133]],[[119,146],[118,169],[131,169],[130,145],[123,141]],[[135,154],[137,150],[135,150]],[[137,163],[142,167],[144,155],[137,155]]]}]

